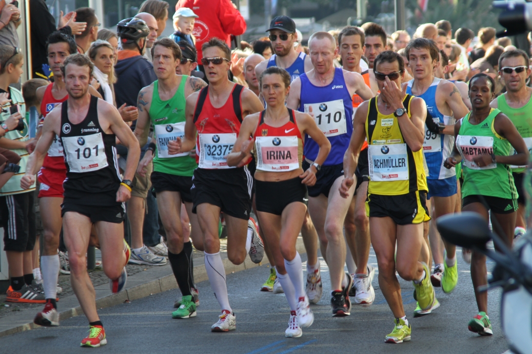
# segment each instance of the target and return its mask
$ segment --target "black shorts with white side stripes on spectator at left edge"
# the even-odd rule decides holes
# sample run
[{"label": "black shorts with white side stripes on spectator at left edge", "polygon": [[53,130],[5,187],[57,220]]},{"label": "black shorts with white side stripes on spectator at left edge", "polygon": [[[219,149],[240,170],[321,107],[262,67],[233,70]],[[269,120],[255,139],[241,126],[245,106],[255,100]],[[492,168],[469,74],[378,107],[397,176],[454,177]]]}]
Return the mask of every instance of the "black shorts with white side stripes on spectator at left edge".
[{"label": "black shorts with white side stripes on spectator at left edge", "polygon": [[0,215],[4,227],[4,250],[24,252],[34,249],[35,191],[0,197]]}]

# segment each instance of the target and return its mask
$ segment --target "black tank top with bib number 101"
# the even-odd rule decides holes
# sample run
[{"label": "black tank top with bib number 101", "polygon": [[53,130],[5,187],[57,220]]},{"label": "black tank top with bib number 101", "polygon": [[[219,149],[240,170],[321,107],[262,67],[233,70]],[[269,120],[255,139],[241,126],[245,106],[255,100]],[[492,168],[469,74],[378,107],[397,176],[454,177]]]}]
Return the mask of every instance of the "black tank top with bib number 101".
[{"label": "black tank top with bib number 101", "polygon": [[115,135],[98,121],[98,98],[90,96],[89,111],[79,124],[68,119],[68,100],[61,109],[61,133],[66,165],[64,200],[81,205],[113,206],[120,187]]}]

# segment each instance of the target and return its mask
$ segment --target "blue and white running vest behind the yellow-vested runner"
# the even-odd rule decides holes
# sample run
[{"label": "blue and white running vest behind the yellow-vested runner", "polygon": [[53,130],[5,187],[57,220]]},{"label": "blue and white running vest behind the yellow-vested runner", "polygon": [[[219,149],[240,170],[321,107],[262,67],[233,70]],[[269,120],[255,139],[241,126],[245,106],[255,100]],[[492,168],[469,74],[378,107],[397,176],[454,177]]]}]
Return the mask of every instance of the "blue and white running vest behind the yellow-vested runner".
[{"label": "blue and white running vest behind the yellow-vested runner", "polygon": [[[425,100],[427,104],[427,114],[430,114],[435,122],[441,122],[445,125],[454,124],[454,118],[448,115],[443,115],[438,111],[436,106],[436,89],[438,83],[442,79],[434,78],[433,83],[429,88],[417,97]],[[406,93],[412,95],[412,85],[414,80],[408,82]],[[454,137],[448,134],[431,133],[425,126],[425,139],[423,139],[423,152],[429,168],[427,179],[429,180],[443,180],[456,175],[455,168],[445,168],[443,163],[445,159],[451,156],[454,146]]]}]

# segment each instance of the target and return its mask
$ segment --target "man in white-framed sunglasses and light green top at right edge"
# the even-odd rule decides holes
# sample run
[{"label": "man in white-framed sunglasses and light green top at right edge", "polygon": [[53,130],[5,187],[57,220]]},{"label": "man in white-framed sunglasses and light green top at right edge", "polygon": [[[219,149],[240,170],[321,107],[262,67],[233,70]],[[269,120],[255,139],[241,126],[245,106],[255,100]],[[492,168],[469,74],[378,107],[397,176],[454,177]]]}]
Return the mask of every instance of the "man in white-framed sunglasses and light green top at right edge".
[{"label": "man in white-framed sunglasses and light green top at right edge", "polygon": [[[530,77],[528,56],[523,50],[515,49],[504,52],[498,61],[499,75],[506,86],[506,93],[495,98],[491,107],[501,109],[510,120],[516,125],[517,130],[525,140],[528,150],[532,149],[532,127],[529,123],[532,116],[532,88],[526,86],[526,81]],[[525,234],[525,190],[523,189],[523,178],[527,166],[510,166],[512,168],[513,180],[516,184],[519,198],[517,203],[516,228],[514,235]]]}]

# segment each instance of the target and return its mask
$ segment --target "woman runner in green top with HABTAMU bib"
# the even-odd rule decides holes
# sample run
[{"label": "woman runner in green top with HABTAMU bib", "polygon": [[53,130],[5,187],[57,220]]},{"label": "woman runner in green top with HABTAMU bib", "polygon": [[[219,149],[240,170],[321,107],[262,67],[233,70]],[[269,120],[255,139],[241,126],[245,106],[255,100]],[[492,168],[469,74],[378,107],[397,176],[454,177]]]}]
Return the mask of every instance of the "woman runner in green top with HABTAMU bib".
[{"label": "woman runner in green top with HABTAMU bib", "polygon": [[[454,125],[454,150],[444,166],[450,168],[462,161],[462,210],[480,214],[486,223],[491,211],[493,231],[511,247],[517,191],[510,165],[526,164],[529,154],[525,141],[508,116],[489,107],[494,90],[494,80],[484,73],[469,81],[472,110]],[[481,335],[492,335],[492,325],[486,314],[487,292],[477,291],[478,286],[487,284],[486,256],[475,251],[471,257],[471,280],[479,313],[469,321],[468,328]]]}]

